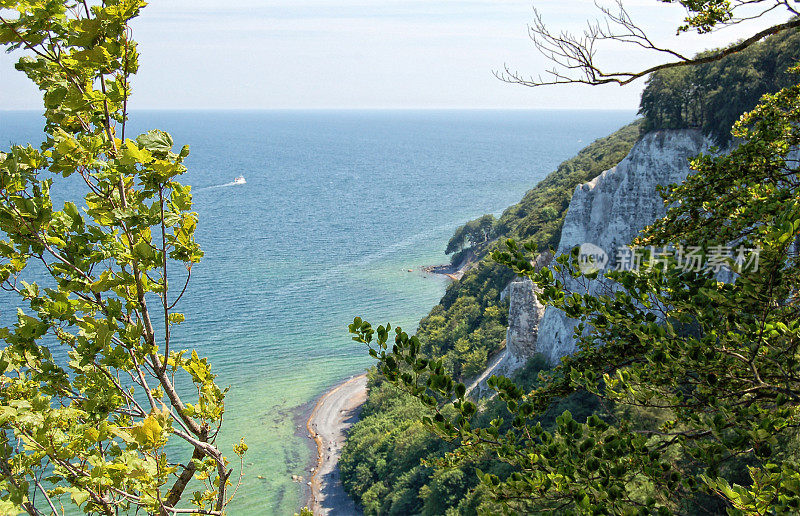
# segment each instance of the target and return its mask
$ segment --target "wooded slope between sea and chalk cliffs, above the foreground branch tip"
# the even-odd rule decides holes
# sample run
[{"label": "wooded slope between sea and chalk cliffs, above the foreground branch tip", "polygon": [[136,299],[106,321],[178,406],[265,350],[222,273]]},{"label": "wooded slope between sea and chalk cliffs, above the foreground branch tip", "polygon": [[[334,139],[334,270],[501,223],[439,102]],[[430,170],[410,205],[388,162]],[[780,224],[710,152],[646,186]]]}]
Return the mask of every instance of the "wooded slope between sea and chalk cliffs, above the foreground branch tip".
[{"label": "wooded slope between sea and chalk cliffs, above the foreground branch tip", "polygon": [[[513,278],[513,273],[489,259],[488,253],[498,247],[500,240],[509,237],[543,247],[558,245],[575,187],[616,165],[630,151],[638,135],[638,123],[634,122],[590,144],[559,165],[558,170],[493,222],[490,235],[495,240],[482,241],[474,248],[478,263],[460,281],[449,285],[441,303],[420,321],[417,336],[426,355],[442,359],[457,377],[474,376],[483,370],[505,339],[508,307],[500,301],[500,292]],[[465,228],[488,227],[493,220],[489,217],[484,215],[468,222],[456,231],[453,239],[463,240]],[[480,234],[483,239],[486,233]]]}]

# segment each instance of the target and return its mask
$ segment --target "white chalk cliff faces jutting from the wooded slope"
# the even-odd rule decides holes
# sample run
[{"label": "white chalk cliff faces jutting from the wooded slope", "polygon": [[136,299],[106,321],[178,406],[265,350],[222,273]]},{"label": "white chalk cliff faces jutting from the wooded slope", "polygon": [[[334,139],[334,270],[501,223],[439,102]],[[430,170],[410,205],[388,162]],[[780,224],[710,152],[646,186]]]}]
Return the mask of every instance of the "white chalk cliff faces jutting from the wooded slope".
[{"label": "white chalk cliff faces jutting from the wooded slope", "polygon": [[[656,187],[683,181],[689,173],[688,158],[707,152],[711,146],[710,140],[694,130],[645,135],[619,165],[575,188],[558,254],[590,243],[605,251],[613,264],[617,247],[630,243],[639,231],[665,214]],[[508,365],[524,363],[535,352],[556,364],[575,350],[576,322],[552,307],[542,314],[535,296],[511,295],[520,289],[524,287],[509,290]],[[536,329],[526,329],[530,321],[538,321]]]}]

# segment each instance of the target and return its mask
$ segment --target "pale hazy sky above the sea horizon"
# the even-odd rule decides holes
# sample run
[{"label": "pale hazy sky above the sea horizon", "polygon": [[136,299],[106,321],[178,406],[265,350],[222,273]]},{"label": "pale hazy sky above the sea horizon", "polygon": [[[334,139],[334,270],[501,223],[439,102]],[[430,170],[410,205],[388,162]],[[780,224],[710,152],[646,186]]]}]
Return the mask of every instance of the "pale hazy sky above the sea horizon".
[{"label": "pale hazy sky above the sea horizon", "polygon": [[[581,31],[592,0],[151,0],[132,23],[141,69],[134,109],[630,109],[629,86],[527,88],[492,75],[548,68],[528,37],[533,6],[553,29]],[[659,43],[690,54],[752,33],[782,15],[705,36],[675,27],[682,8],[627,0]],[[39,109],[41,96],[0,54],[0,109]],[[626,68],[663,56],[598,52]]]}]

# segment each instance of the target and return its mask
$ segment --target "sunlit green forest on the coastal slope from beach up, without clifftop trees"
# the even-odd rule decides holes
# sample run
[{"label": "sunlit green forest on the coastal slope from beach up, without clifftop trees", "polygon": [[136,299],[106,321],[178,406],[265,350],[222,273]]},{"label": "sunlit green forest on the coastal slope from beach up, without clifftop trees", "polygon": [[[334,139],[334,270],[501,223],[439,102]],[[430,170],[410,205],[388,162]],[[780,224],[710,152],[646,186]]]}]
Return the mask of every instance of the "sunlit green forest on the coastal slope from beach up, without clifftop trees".
[{"label": "sunlit green forest on the coastal slope from beach up, without clifftop trees", "polygon": [[[639,122],[634,122],[562,163],[494,223],[493,241],[522,237],[545,247],[555,246],[575,187],[618,163],[638,135]],[[441,302],[419,325],[418,336],[426,354],[443,359],[451,371],[463,377],[482,371],[487,358],[501,349],[505,339],[508,306],[500,301],[500,291],[513,273],[488,258],[487,252],[495,247],[493,243],[481,248],[478,263],[448,287]],[[531,360],[517,378],[524,385],[533,385],[536,373],[544,367],[543,360]],[[345,488],[366,514],[475,513],[482,503],[480,490],[470,492],[478,483],[474,468],[420,463],[435,461],[451,449],[423,427],[420,409],[415,398],[385,383],[374,370],[370,373],[369,399],[340,461]],[[500,404],[489,403],[481,418],[491,421],[502,410]],[[577,405],[572,410],[580,412]],[[483,469],[502,473],[490,464]]]}]

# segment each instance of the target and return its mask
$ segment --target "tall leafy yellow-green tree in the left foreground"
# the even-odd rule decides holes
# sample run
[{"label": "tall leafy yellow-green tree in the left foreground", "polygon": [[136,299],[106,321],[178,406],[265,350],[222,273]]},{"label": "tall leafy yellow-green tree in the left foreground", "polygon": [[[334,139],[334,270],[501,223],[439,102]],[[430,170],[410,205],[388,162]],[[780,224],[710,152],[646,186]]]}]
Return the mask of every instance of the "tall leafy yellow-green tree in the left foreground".
[{"label": "tall leafy yellow-green tree in the left foreground", "polygon": [[[2,514],[70,499],[93,514],[222,514],[230,500],[225,391],[206,359],[170,347],[202,257],[176,180],[189,150],[159,130],[126,137],[129,22],[144,6],[0,1],[0,44],[23,51],[46,120],[40,146],[0,152],[0,281],[26,305],[0,328]],[[85,195],[59,210],[67,185]]]}]

